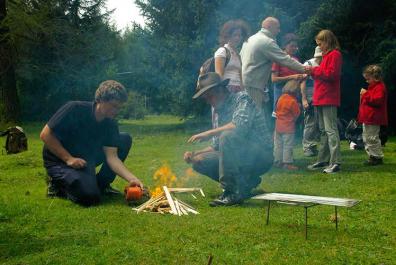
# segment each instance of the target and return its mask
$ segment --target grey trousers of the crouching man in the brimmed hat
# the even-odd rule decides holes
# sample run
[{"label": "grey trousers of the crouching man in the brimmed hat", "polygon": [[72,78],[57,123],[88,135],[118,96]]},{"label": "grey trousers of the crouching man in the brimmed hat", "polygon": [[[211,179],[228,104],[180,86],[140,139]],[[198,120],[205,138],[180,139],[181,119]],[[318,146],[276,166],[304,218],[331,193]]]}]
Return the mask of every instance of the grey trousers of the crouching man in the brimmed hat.
[{"label": "grey trousers of the crouching man in the brimmed hat", "polygon": [[247,141],[235,131],[223,132],[219,151],[199,154],[193,169],[220,182],[226,192],[244,193],[260,184],[273,162],[271,148]]}]

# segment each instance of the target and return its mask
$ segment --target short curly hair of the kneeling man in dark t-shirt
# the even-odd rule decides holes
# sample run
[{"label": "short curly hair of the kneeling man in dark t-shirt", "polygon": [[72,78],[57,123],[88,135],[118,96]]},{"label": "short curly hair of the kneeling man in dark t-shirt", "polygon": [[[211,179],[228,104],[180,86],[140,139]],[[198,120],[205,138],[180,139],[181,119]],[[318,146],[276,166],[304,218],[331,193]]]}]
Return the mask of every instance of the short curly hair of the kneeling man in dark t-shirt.
[{"label": "short curly hair of the kneeling man in dark t-shirt", "polygon": [[111,100],[125,102],[127,99],[128,93],[125,87],[114,80],[102,82],[95,92],[95,102],[109,102]]}]

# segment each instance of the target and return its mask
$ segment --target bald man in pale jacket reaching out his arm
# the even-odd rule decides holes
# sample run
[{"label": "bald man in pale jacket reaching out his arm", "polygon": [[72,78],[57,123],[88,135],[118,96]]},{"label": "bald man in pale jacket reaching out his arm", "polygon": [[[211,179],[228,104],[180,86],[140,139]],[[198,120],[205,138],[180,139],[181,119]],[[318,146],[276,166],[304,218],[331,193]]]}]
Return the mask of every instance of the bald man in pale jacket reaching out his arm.
[{"label": "bald man in pale jacket reaching out his arm", "polygon": [[267,17],[262,22],[261,30],[243,44],[240,53],[244,87],[259,108],[263,108],[269,101],[266,86],[271,76],[273,62],[302,73],[301,79],[306,77],[303,74],[306,72],[304,65],[291,58],[276,43],[275,39],[279,32],[279,20]]}]

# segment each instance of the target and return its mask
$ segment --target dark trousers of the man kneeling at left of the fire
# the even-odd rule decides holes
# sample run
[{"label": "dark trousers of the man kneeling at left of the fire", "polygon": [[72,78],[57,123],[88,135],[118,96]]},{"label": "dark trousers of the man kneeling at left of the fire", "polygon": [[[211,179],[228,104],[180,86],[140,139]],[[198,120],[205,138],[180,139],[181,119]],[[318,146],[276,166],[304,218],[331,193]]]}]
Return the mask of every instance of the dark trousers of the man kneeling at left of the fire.
[{"label": "dark trousers of the man kneeling at left of the fire", "polygon": [[[132,146],[132,137],[127,133],[120,133],[117,144],[118,157],[125,161]],[[101,192],[115,179],[115,173],[106,162],[104,152],[92,154],[85,159],[87,165],[83,169],[74,169],[64,163],[48,166],[47,173],[52,184],[66,197],[75,203],[90,206],[100,201]],[[96,166],[102,164],[98,174]]]}]

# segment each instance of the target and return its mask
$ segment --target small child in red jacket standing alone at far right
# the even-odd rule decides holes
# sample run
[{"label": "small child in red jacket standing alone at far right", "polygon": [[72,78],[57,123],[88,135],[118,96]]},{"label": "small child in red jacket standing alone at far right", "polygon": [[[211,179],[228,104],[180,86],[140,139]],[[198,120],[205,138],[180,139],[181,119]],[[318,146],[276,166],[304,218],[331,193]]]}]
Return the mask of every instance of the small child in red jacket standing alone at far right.
[{"label": "small child in red jacket standing alone at far right", "polygon": [[382,82],[382,70],[378,65],[369,65],[363,70],[368,88],[360,90],[358,121],[363,123],[363,142],[369,159],[365,165],[382,164],[382,152],[379,131],[381,125],[388,125],[388,95]]}]

